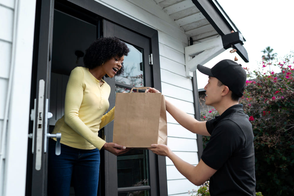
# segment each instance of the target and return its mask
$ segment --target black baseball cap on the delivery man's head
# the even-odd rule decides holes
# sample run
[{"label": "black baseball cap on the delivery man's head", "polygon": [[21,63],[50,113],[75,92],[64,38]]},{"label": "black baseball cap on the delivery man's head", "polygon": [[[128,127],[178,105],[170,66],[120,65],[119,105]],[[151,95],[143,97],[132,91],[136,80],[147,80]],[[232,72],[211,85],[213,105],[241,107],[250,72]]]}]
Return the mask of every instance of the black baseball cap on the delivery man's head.
[{"label": "black baseball cap on the delivery man's head", "polygon": [[225,59],[212,68],[198,64],[197,69],[205,75],[217,78],[238,97],[243,96],[247,75],[241,64]]}]

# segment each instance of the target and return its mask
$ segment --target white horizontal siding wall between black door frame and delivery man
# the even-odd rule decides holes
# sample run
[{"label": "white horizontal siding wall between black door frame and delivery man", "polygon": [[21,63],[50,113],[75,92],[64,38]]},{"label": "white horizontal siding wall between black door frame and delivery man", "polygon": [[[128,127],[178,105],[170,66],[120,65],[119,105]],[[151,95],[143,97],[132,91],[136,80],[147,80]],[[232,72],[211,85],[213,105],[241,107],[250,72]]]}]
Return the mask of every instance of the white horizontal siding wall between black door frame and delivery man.
[{"label": "white horizontal siding wall between black door frame and delivery man", "polygon": [[[188,46],[188,36],[183,30],[153,0],[98,2],[158,30],[162,93],[178,108],[194,116],[192,81],[186,78],[185,71],[184,47]],[[196,135],[179,125],[168,113],[167,121],[168,146],[183,160],[197,165]],[[168,158],[166,164],[168,195],[187,195],[188,190],[197,189]]]}]

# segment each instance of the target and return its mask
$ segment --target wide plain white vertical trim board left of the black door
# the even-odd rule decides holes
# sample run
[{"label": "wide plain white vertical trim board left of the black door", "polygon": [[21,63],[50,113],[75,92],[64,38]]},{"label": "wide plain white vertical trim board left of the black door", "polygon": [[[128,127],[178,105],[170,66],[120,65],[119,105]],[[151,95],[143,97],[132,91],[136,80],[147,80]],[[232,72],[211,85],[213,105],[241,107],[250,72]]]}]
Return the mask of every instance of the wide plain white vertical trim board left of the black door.
[{"label": "wide plain white vertical trim board left of the black door", "polygon": [[15,1],[4,196],[25,195],[35,9],[36,0]]}]

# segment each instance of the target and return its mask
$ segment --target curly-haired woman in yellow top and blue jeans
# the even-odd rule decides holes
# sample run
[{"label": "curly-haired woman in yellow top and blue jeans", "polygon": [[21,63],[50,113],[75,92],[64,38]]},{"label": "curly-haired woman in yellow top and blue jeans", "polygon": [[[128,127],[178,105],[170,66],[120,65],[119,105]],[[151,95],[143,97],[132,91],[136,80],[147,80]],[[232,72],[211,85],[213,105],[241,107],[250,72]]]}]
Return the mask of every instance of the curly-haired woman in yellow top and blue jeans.
[{"label": "curly-haired woman in yellow top and blue jeans", "polygon": [[86,50],[85,67],[71,71],[66,87],[64,116],[53,134],[61,133],[61,155],[55,155],[56,139],[49,139],[48,194],[69,195],[73,176],[75,195],[97,195],[100,149],[119,155],[126,147],[106,143],[98,130],[113,120],[109,107],[110,86],[102,79],[123,73],[129,48],[118,38],[99,38]]}]

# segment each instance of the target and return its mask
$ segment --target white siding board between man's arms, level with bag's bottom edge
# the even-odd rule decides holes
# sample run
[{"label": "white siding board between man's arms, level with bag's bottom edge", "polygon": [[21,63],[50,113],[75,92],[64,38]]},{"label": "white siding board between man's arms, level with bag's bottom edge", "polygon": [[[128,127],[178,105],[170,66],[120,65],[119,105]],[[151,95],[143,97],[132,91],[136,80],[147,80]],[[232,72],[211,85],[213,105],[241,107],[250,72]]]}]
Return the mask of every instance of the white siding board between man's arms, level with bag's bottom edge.
[{"label": "white siding board between man's arms, level with bag's bottom edge", "polygon": [[172,151],[197,152],[197,142],[195,139],[168,137],[168,146]]}]

